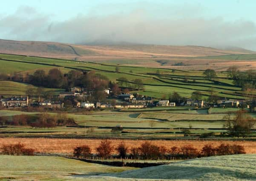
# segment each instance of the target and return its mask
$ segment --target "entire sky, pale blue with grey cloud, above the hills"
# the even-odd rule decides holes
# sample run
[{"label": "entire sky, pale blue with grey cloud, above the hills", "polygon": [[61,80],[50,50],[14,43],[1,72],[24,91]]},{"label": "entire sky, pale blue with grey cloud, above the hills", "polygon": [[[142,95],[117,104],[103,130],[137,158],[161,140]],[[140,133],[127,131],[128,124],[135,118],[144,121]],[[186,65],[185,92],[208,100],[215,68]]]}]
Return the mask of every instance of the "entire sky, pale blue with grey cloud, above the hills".
[{"label": "entire sky, pale blue with grey cloud, above the hills", "polygon": [[8,0],[0,39],[256,50],[255,9],[255,0]]}]

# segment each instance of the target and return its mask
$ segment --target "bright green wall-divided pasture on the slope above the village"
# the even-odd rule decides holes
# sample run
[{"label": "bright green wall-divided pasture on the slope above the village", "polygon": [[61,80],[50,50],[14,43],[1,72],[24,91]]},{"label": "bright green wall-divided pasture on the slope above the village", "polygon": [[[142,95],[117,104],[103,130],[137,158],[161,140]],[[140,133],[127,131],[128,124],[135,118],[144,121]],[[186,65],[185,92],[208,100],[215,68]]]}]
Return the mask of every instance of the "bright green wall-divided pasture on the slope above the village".
[{"label": "bright green wall-divided pasture on the slope above the village", "polygon": [[[50,68],[54,67],[57,67],[63,72],[68,72],[74,68],[86,71],[94,70],[96,73],[105,75],[111,81],[117,81],[121,77],[126,77],[128,81],[132,82],[134,79],[140,78],[144,83],[144,91],[140,91],[139,93],[156,98],[162,98],[164,95],[168,97],[174,91],[178,92],[183,97],[190,97],[192,92],[201,91],[202,94],[204,94],[204,99],[206,99],[207,95],[209,95],[208,90],[212,87],[216,95],[220,97],[244,99],[243,94],[240,94],[242,93],[241,87],[234,86],[232,80],[227,78],[227,73],[225,72],[217,72],[219,78],[217,78],[216,81],[211,81],[205,80],[203,71],[184,72],[175,70],[175,72],[173,72],[172,69],[129,67],[5,54],[0,54],[0,58],[2,58],[0,62],[6,65],[0,67],[0,72],[8,74],[13,74],[14,72],[31,74],[37,69],[44,69],[47,72]],[[120,68],[119,73],[115,72],[116,66]],[[161,75],[155,75],[156,72]],[[188,82],[184,81],[185,78],[188,79]],[[0,83],[0,88],[5,86],[1,86],[1,84],[3,84],[3,82]],[[239,95],[234,95],[235,92],[238,92]],[[136,91],[134,93],[136,93]]]}]

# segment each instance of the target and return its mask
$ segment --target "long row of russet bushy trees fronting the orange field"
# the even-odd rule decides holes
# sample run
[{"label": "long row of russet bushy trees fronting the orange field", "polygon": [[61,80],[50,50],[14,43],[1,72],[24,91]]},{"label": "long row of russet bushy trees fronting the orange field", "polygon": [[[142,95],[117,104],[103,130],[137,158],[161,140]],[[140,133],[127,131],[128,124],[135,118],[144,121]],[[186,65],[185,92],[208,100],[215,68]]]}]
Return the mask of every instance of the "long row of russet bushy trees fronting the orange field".
[{"label": "long row of russet bushy trees fronting the orange field", "polygon": [[[97,155],[102,158],[109,158],[113,151],[118,153],[119,158],[130,157],[131,159],[165,159],[165,158],[196,158],[203,156],[219,156],[244,154],[242,145],[220,144],[219,146],[204,145],[201,150],[193,147],[193,145],[184,145],[181,147],[173,146],[169,150],[165,146],[154,145],[149,141],[143,142],[139,147],[128,148],[124,142],[121,142],[116,148],[112,146],[109,140],[102,140],[101,144],[96,148]],[[88,145],[76,147],[73,155],[79,157],[89,157],[92,150]]]}]

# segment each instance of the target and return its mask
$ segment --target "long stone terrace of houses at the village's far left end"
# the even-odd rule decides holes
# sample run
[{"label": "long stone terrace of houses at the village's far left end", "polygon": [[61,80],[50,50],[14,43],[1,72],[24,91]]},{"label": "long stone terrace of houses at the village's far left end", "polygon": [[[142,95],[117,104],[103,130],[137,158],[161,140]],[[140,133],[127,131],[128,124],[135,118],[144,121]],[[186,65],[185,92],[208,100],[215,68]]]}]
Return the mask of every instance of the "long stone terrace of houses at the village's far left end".
[{"label": "long stone terrace of houses at the village's far left end", "polygon": [[11,97],[0,101],[3,107],[24,107],[29,105],[28,97]]}]

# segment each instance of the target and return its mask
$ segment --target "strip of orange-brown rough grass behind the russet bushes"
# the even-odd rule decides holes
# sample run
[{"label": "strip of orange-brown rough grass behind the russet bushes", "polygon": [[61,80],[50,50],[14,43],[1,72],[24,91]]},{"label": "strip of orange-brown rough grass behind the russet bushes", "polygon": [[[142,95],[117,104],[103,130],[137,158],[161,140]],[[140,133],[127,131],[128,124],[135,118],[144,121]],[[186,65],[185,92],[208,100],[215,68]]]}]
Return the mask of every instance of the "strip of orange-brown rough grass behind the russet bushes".
[{"label": "strip of orange-brown rough grass behind the russet bushes", "polygon": [[[70,153],[72,154],[75,147],[88,145],[92,149],[92,153],[96,153],[96,148],[101,144],[102,139],[52,139],[52,138],[0,138],[0,147],[6,144],[21,143],[26,147],[35,149],[40,153]],[[111,139],[112,145],[116,148],[123,142],[129,149],[139,147],[145,140],[131,139]],[[204,145],[220,145],[236,144],[244,146],[246,153],[256,153],[256,142],[253,141],[199,141],[199,140],[152,140],[152,144],[157,146],[165,146],[170,150],[173,146],[182,147],[193,145],[194,148],[201,150]],[[113,151],[113,153],[117,153]]]}]

